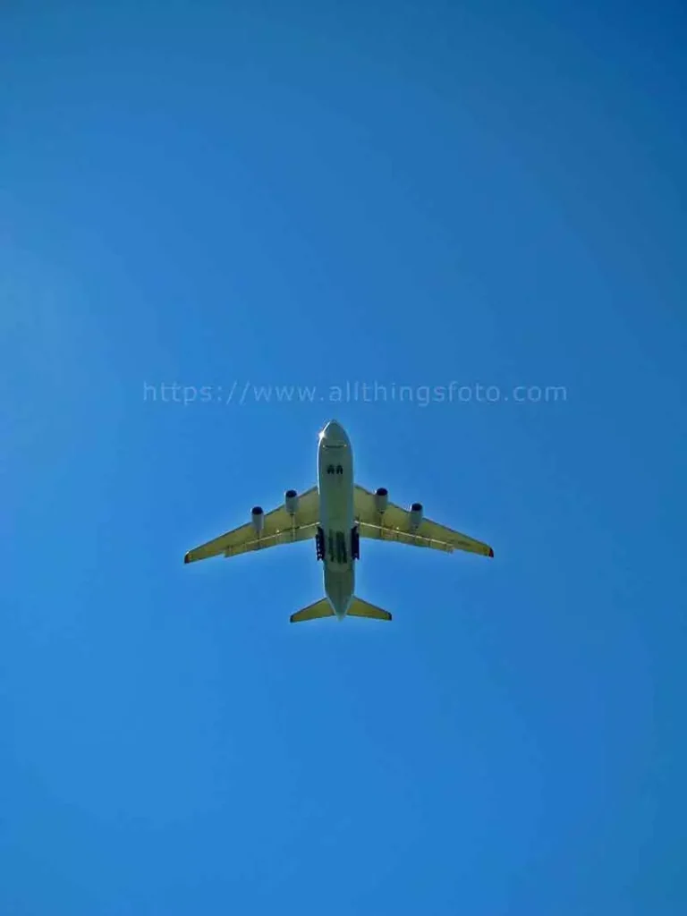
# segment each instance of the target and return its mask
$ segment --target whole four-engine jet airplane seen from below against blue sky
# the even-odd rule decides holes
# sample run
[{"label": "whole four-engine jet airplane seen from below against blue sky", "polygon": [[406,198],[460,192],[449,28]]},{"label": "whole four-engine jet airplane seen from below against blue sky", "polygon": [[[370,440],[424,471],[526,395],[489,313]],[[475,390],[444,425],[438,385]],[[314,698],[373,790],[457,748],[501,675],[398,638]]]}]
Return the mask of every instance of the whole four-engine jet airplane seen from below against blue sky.
[{"label": "whole four-engine jet airplane seen from below against blue sky", "polygon": [[330,420],[319,434],[317,485],[300,495],[287,490],[283,504],[267,515],[262,507],[253,507],[247,524],[189,551],[184,562],[220,555],[234,557],[312,539],[317,560],[323,564],[325,597],[292,614],[291,623],[331,616],[339,620],[345,616],[391,620],[388,611],[354,594],[361,538],[494,556],[488,544],[424,518],[420,503],[403,509],[389,502],[385,487],[371,493],[355,484],[351,441],[344,427]]}]

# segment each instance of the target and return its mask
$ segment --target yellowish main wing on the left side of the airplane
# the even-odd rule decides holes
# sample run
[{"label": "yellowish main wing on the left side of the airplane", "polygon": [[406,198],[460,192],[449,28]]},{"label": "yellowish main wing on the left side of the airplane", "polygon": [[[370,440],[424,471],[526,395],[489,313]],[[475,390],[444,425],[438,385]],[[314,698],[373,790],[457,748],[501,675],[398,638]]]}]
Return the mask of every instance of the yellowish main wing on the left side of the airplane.
[{"label": "yellowish main wing on the left side of the airplane", "polygon": [[241,528],[227,531],[219,538],[209,540],[195,547],[184,557],[185,563],[206,560],[208,557],[235,557],[247,551],[261,551],[278,544],[290,544],[297,540],[314,538],[320,520],[320,494],[313,486],[298,499],[295,515],[289,515],[286,506],[280,506],[264,516],[264,525],[258,533],[250,521]]}]

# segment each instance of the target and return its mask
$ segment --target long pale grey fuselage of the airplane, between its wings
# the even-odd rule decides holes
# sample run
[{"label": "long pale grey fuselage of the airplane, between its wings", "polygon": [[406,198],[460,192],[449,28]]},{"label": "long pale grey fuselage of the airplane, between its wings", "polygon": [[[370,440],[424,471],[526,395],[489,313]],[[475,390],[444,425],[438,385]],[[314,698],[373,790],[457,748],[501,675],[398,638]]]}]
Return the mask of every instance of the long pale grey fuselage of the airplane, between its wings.
[{"label": "long pale grey fuselage of the airplane, between its wings", "polygon": [[317,481],[324,594],[334,614],[341,619],[354,596],[357,537],[354,530],[353,450],[343,427],[336,422],[328,423],[320,434]]}]

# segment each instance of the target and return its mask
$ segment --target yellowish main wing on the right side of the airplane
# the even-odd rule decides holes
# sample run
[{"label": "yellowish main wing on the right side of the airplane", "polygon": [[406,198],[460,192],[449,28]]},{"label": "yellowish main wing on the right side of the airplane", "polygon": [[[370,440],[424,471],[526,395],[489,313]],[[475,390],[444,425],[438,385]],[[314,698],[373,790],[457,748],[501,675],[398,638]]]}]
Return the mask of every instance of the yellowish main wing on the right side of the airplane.
[{"label": "yellowish main wing on the right side of the airplane", "polygon": [[423,518],[416,529],[410,525],[408,509],[402,509],[394,503],[387,503],[384,512],[379,512],[376,507],[376,496],[365,490],[364,486],[354,487],[355,518],[358,519],[358,531],[361,538],[374,538],[376,540],[396,540],[401,544],[412,547],[431,547],[435,551],[469,551],[480,553],[485,557],[493,557],[494,551],[488,544],[481,540],[468,538],[466,534],[446,528]]}]

